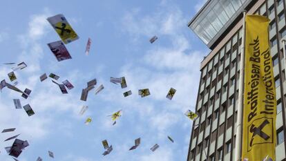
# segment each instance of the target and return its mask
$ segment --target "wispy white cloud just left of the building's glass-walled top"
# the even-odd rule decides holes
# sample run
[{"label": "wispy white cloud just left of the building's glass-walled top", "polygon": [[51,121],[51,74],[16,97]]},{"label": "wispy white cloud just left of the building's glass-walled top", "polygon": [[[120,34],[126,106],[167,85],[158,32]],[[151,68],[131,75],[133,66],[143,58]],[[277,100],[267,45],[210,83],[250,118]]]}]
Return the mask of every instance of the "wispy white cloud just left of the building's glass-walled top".
[{"label": "wispy white cloud just left of the building's glass-walled top", "polygon": [[140,8],[126,12],[122,19],[123,32],[127,32],[133,42],[137,42],[141,36],[151,38],[157,35],[160,39],[162,36],[175,36],[178,32],[181,33],[180,30],[187,22],[187,19],[182,16],[182,11],[164,3],[162,7],[166,10],[157,10],[144,17],[141,17]]}]

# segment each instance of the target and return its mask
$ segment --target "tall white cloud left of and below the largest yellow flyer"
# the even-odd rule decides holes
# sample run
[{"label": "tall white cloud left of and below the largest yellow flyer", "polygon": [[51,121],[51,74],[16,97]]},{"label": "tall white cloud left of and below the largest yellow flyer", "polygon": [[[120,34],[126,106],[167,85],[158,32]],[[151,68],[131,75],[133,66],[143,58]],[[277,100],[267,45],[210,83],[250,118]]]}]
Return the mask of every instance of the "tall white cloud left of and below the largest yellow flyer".
[{"label": "tall white cloud left of and below the largest yellow flyer", "polygon": [[[30,97],[24,100],[21,98],[20,93],[4,88],[2,90],[2,96],[6,93],[8,93],[8,95],[0,98],[2,111],[0,113],[1,122],[5,124],[7,128],[15,126],[19,133],[21,133],[21,137],[32,138],[32,140],[44,139],[44,136],[50,133],[52,127],[57,124],[57,122],[53,120],[53,117],[57,114],[71,111],[73,115],[77,115],[80,108],[80,104],[75,101],[79,100],[77,95],[72,93],[62,95],[59,91],[59,87],[52,84],[50,80],[41,82],[41,84],[39,82],[39,75],[42,74],[40,62],[44,57],[44,48],[41,39],[44,39],[45,35],[48,34],[47,27],[49,24],[46,18],[49,16],[50,12],[48,12],[48,10],[45,10],[44,14],[32,15],[28,23],[27,32],[18,37],[22,52],[17,57],[17,61],[24,61],[28,66],[23,70],[16,71],[17,80],[19,81],[19,85],[17,86],[20,89],[31,89],[32,93]],[[7,75],[8,72],[10,72],[8,67],[1,68],[0,70],[0,73],[3,75]],[[75,82],[76,81],[77,79],[75,79]],[[35,111],[35,115],[28,117],[23,109],[15,109],[11,97],[20,98],[22,106],[30,104]],[[4,104],[3,102],[8,103]],[[49,114],[49,117],[47,117],[47,114]],[[12,118],[17,119],[12,120]],[[68,124],[61,127],[64,127],[63,130],[70,129]]]}]

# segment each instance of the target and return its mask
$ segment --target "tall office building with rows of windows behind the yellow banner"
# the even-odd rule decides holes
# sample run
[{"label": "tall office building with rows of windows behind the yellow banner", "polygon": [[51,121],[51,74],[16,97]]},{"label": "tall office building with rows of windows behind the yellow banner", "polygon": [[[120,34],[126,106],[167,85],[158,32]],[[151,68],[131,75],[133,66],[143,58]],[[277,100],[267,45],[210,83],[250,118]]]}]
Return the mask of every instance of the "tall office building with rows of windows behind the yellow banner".
[{"label": "tall office building with rows of windows behind the yellow banner", "polygon": [[270,19],[269,45],[277,100],[276,160],[286,161],[286,82],[282,39],[286,39],[286,0],[209,0],[189,28],[211,52],[201,63],[187,161],[234,160],[238,80],[242,47],[242,11]]}]

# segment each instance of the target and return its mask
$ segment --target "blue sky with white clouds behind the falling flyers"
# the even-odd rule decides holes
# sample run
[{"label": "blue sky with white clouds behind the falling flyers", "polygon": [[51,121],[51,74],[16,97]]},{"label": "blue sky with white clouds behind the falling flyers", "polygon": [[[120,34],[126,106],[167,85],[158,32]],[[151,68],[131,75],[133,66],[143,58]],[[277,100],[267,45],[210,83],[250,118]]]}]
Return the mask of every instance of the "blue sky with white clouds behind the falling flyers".
[{"label": "blue sky with white clouds behind the falling flyers", "polygon": [[[19,139],[30,146],[19,160],[61,161],[177,161],[186,160],[191,134],[191,120],[184,116],[194,109],[200,78],[200,62],[209,53],[187,23],[203,1],[3,1],[0,6],[1,63],[25,61],[17,70],[18,88],[30,88],[28,100],[4,88],[0,97],[0,128],[17,128],[0,133],[0,139],[21,133]],[[79,39],[66,45],[73,59],[58,62],[46,44],[59,36],[46,18],[64,14]],[[158,36],[154,44],[149,43]],[[90,55],[84,50],[92,39]],[[11,66],[0,66],[0,79],[8,81]],[[55,73],[60,81],[68,79],[74,86],[63,95],[50,79],[39,81],[43,73]],[[127,88],[109,82],[110,77],[126,77]],[[97,79],[104,90],[90,91],[87,102],[79,100],[86,82]],[[96,87],[97,87],[96,86]],[[173,100],[166,93],[177,90]],[[151,95],[141,98],[140,88],[149,88]],[[133,95],[124,98],[122,93]],[[35,115],[28,117],[23,109],[15,109],[12,99],[22,106],[30,104]],[[87,105],[82,116],[79,111]],[[123,111],[117,124],[111,117]],[[93,122],[84,124],[87,117]],[[175,143],[169,142],[170,135]],[[134,140],[140,146],[128,151]],[[103,156],[102,140],[113,145],[111,154]],[[0,160],[12,158],[0,143]],[[160,148],[152,152],[151,146]],[[55,159],[48,158],[48,151]]]}]

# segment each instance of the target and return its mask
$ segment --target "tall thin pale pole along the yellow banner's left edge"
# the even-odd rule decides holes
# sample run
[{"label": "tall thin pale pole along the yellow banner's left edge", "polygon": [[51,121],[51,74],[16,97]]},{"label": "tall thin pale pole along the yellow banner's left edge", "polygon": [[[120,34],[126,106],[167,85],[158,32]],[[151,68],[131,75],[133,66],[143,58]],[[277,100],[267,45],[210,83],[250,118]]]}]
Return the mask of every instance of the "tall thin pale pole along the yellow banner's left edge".
[{"label": "tall thin pale pole along the yellow banner's left edge", "polygon": [[243,110],[243,86],[244,86],[244,72],[245,72],[245,16],[246,10],[243,11],[243,25],[242,25],[242,48],[240,55],[240,73],[238,86],[238,116],[236,122],[236,153],[234,155],[235,161],[241,160],[241,140],[242,140],[242,110]]}]

